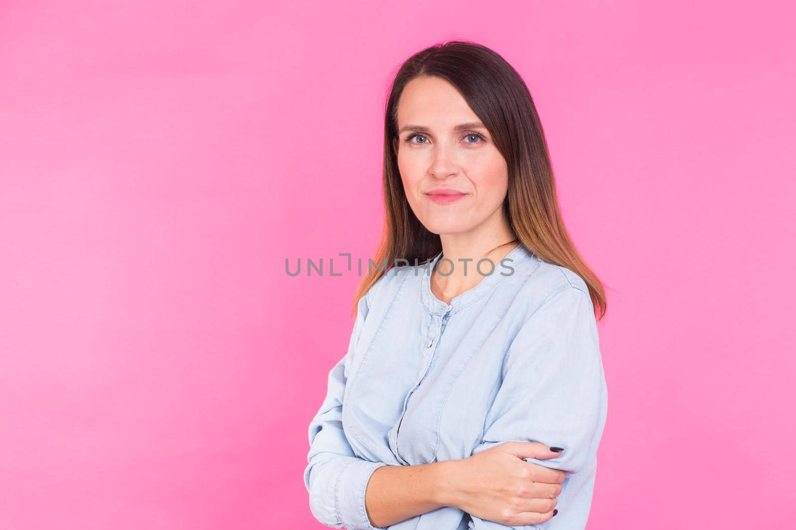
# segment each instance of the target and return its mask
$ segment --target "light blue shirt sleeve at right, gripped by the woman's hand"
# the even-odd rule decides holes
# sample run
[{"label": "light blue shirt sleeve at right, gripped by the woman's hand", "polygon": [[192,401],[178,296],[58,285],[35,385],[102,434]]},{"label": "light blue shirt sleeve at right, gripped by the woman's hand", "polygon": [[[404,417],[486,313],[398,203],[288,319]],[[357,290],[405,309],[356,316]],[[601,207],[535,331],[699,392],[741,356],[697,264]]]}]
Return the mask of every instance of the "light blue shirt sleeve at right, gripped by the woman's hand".
[{"label": "light blue shirt sleeve at right, gripped by the woman's hand", "polygon": [[564,447],[554,458],[524,458],[563,470],[556,509],[540,524],[507,527],[472,516],[475,530],[586,527],[596,453],[607,414],[607,387],[591,298],[572,285],[557,289],[509,345],[503,381],[473,454],[507,441]]}]

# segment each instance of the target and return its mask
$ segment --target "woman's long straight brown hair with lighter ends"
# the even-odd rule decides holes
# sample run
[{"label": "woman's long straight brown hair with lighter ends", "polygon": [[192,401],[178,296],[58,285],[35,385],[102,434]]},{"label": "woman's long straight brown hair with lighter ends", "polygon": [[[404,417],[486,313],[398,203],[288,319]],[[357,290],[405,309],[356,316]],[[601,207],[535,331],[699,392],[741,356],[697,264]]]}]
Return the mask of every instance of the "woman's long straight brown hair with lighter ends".
[{"label": "woman's long straight brown hair with lighter ends", "polygon": [[552,164],[539,115],[521,76],[501,56],[482,44],[448,41],[417,52],[401,65],[384,110],[384,224],[373,261],[353,300],[362,296],[396,260],[426,263],[442,251],[439,234],[427,230],[409,207],[393,149],[397,106],[406,84],[436,75],[453,84],[494,138],[509,168],[503,207],[515,237],[544,261],[562,265],[586,282],[595,315],[607,308],[603,284],[589,269],[569,238],[556,196]]}]

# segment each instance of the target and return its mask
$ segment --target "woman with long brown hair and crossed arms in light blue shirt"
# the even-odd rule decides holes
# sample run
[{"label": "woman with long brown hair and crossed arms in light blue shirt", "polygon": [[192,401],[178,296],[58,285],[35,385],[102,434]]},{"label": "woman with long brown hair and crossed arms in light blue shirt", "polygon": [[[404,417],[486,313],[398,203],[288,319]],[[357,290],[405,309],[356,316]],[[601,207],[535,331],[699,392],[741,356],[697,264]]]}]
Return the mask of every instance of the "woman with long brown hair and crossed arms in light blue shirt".
[{"label": "woman with long brown hair and crossed arms in light blue shirt", "polygon": [[384,235],[310,424],[334,528],[584,528],[607,413],[603,287],[561,220],[525,83],[454,41],[396,75]]}]

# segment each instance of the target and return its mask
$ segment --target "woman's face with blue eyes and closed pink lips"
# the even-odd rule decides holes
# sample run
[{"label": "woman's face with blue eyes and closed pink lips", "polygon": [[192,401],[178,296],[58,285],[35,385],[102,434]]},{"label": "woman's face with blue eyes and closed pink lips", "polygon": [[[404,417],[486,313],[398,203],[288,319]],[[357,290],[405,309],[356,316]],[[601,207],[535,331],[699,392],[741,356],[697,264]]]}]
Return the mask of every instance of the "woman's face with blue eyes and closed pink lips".
[{"label": "woman's face with blue eyes and closed pink lips", "polygon": [[[435,234],[497,226],[508,168],[458,90],[439,77],[412,79],[400,95],[397,113],[398,170],[423,226]],[[436,195],[440,191],[456,195]]]}]

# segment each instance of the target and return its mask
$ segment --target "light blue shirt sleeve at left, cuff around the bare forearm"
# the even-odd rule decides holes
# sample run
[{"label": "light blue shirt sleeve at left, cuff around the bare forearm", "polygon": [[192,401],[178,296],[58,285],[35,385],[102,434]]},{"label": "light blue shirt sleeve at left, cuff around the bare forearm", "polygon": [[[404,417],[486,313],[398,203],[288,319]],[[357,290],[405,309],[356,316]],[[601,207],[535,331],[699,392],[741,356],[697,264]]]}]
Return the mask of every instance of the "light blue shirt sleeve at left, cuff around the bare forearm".
[{"label": "light blue shirt sleeve at left, cuff around the bare forearm", "polygon": [[354,455],[342,426],[347,363],[367,314],[368,300],[362,296],[357,306],[349,350],[330,370],[326,397],[310,422],[310,452],[304,470],[304,486],[310,493],[313,516],[331,528],[376,530],[365,511],[365,488],[373,471],[387,465]]}]

